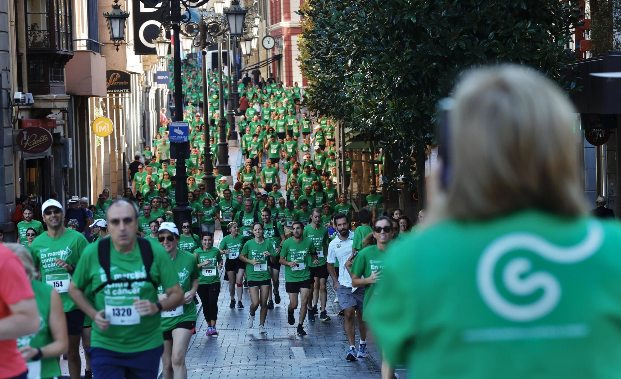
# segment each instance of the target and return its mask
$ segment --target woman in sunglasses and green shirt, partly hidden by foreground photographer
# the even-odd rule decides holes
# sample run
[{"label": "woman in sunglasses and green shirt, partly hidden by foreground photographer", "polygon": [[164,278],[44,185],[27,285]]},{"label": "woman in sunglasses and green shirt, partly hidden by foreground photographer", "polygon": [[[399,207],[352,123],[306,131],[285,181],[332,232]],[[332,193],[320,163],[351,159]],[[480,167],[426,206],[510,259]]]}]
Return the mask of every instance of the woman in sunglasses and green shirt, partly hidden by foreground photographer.
[{"label": "woman in sunglasses and green shirt, partly hidden by foreground photographer", "polygon": [[[386,258],[386,247],[392,240],[394,227],[392,220],[386,216],[380,216],[373,220],[373,233],[369,234],[362,242],[364,247],[353,258],[351,263],[351,286],[353,288],[364,287],[365,299],[363,300],[363,321],[368,321],[365,317],[369,301],[373,299],[375,292],[374,285],[381,279],[381,272],[384,268],[383,260]],[[347,263],[349,266],[350,263]],[[362,278],[364,276],[364,278]],[[363,341],[360,342],[363,344]],[[364,343],[366,345],[366,342]],[[353,350],[353,351],[352,351]],[[351,348],[348,357],[355,354],[355,349]],[[355,360],[353,356],[352,360]],[[382,378],[393,378],[394,367],[388,361],[382,361]]]}]

